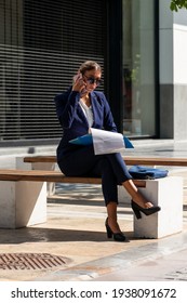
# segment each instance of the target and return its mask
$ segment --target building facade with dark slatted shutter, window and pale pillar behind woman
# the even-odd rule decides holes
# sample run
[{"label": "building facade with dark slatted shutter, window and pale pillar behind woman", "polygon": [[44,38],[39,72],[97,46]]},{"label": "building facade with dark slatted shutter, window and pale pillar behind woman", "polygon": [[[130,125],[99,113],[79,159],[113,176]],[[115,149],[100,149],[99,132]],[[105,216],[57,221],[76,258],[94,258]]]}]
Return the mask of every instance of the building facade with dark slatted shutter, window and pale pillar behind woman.
[{"label": "building facade with dark slatted shutter, window and pale pillar behind woman", "polygon": [[0,0],[0,146],[58,142],[53,100],[85,60],[119,132],[186,140],[186,21],[170,0]]}]

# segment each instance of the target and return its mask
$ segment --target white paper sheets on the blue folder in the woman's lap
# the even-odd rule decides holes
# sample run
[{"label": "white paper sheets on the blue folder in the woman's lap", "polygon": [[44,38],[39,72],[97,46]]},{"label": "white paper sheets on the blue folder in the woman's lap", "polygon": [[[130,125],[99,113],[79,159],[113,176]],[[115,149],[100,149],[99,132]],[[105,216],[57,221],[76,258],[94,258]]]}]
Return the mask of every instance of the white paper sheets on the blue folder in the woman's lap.
[{"label": "white paper sheets on the blue folder in the woman's lap", "polygon": [[95,155],[113,154],[124,150],[124,141],[121,133],[109,132],[91,128]]}]

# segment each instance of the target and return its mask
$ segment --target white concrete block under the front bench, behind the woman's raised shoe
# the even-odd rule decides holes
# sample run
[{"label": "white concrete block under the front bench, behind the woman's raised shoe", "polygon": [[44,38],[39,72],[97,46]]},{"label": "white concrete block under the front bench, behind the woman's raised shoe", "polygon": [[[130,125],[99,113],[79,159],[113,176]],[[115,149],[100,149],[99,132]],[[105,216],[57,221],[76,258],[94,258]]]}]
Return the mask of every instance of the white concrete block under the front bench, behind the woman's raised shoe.
[{"label": "white concrete block under the front bench, behind the woman's raised shoe", "polygon": [[[121,189],[120,189],[121,190]],[[146,188],[139,190],[161,211],[142,219],[134,215],[134,236],[138,238],[161,238],[183,230],[183,179],[168,176],[147,180]]]}]

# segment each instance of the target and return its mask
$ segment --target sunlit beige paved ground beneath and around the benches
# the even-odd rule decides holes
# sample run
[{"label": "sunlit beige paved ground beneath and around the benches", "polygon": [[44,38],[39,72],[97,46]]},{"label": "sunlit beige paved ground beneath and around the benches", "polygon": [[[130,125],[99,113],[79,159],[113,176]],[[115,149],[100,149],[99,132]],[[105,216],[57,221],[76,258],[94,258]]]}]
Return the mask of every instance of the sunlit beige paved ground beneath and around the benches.
[{"label": "sunlit beige paved ground beneath and around the benches", "polygon": [[[186,144],[136,144],[136,149],[126,152],[129,155],[187,155]],[[38,269],[0,267],[0,281],[186,280],[187,173],[181,168],[170,168],[170,171],[185,177],[183,233],[163,239],[136,239],[132,210],[123,203],[119,206],[119,222],[130,241],[108,240],[104,226],[106,209],[99,186],[57,185],[56,195],[49,198],[46,223],[21,229],[0,229],[0,255],[49,254],[62,256],[64,263]]]}]

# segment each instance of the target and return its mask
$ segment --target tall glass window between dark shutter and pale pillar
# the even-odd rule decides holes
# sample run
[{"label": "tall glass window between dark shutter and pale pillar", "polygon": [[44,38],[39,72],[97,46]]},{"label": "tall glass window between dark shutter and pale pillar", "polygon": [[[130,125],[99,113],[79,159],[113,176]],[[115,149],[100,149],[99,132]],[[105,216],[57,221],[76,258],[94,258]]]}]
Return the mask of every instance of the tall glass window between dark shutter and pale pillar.
[{"label": "tall glass window between dark shutter and pale pillar", "polygon": [[155,1],[123,0],[123,131],[156,134]]}]

